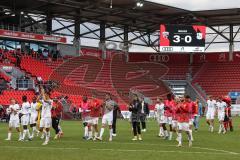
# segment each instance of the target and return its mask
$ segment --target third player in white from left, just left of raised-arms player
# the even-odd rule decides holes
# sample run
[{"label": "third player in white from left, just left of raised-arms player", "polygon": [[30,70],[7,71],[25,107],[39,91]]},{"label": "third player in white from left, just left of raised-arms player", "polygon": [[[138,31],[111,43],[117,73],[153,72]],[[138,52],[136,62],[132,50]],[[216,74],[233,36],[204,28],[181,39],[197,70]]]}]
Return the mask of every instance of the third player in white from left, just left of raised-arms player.
[{"label": "third player in white from left, just left of raised-arms player", "polygon": [[30,127],[32,128],[31,139],[34,138],[34,133],[39,133],[37,130],[37,118],[38,118],[38,111],[37,111],[38,103],[37,98],[33,97],[30,109]]}]

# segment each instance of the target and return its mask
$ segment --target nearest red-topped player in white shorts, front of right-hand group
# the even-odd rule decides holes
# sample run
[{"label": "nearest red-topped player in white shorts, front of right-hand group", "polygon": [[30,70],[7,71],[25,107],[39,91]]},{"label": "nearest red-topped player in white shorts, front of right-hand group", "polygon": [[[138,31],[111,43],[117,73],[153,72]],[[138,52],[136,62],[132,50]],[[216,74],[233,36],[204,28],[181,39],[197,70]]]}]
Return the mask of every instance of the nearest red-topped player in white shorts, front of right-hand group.
[{"label": "nearest red-topped player in white shorts, front of right-hand group", "polygon": [[192,146],[192,139],[189,133],[189,122],[192,110],[192,103],[188,95],[185,96],[184,102],[181,102],[177,106],[178,117],[178,147],[182,146],[182,131],[185,131],[188,135],[189,147]]}]

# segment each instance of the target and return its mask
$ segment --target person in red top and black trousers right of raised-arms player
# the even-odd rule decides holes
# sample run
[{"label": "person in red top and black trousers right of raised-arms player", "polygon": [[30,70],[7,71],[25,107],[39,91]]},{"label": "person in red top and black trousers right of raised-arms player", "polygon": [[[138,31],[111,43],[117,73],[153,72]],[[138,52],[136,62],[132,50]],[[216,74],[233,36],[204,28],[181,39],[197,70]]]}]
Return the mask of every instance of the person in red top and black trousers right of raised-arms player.
[{"label": "person in red top and black trousers right of raised-arms player", "polygon": [[55,137],[54,139],[58,139],[61,137],[60,134],[60,129],[58,127],[59,122],[61,120],[62,117],[62,112],[63,112],[63,107],[61,105],[61,103],[59,103],[59,101],[57,99],[53,100],[53,107],[51,110],[52,113],[52,127],[55,130]]}]

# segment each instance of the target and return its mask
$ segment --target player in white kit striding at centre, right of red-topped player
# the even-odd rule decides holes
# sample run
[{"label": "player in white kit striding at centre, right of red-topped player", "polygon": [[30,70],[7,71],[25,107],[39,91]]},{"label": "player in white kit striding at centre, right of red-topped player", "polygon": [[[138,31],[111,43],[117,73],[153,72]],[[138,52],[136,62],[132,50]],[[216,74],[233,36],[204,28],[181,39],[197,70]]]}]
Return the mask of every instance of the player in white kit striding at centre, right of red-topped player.
[{"label": "player in white kit striding at centre, right of red-topped player", "polygon": [[104,110],[104,115],[102,117],[102,128],[100,131],[100,136],[97,137],[98,140],[102,140],[102,136],[104,133],[104,129],[106,126],[109,126],[109,141],[112,141],[112,134],[113,134],[113,129],[112,129],[112,123],[113,123],[113,108],[114,108],[115,102],[111,99],[110,94],[106,94],[106,100],[103,105],[103,110]]}]

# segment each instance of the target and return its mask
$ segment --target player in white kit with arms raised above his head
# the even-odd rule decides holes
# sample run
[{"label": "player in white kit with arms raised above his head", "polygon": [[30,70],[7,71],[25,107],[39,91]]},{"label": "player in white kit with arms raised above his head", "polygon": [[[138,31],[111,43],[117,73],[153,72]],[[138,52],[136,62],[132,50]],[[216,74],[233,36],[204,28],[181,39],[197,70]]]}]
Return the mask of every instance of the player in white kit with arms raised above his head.
[{"label": "player in white kit with arms raised above his head", "polygon": [[41,120],[40,120],[40,132],[43,132],[45,129],[45,141],[42,145],[47,145],[50,140],[50,128],[52,125],[52,118],[51,118],[51,109],[53,101],[50,99],[49,93],[45,93],[44,89],[41,89],[41,96],[42,96],[42,107],[41,107]]}]

